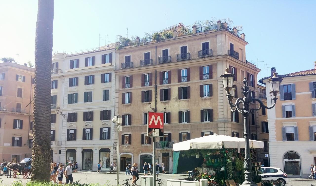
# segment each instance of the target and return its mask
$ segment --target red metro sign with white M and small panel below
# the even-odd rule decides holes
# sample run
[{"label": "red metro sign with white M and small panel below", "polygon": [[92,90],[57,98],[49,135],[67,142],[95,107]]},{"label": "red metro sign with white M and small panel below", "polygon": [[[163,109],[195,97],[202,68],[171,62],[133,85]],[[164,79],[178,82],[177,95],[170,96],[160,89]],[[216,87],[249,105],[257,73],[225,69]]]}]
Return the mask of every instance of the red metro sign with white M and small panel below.
[{"label": "red metro sign with white M and small panel below", "polygon": [[148,137],[163,137],[163,112],[148,112]]}]

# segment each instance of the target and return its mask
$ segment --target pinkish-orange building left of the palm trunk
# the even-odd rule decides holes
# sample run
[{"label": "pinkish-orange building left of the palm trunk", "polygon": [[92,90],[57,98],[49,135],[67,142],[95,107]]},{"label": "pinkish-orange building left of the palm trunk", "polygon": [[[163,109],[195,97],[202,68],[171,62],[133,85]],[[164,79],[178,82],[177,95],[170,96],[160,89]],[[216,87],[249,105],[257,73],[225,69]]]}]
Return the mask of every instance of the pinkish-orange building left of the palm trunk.
[{"label": "pinkish-orange building left of the palm trunk", "polygon": [[31,157],[33,142],[34,68],[0,63],[0,157]]}]

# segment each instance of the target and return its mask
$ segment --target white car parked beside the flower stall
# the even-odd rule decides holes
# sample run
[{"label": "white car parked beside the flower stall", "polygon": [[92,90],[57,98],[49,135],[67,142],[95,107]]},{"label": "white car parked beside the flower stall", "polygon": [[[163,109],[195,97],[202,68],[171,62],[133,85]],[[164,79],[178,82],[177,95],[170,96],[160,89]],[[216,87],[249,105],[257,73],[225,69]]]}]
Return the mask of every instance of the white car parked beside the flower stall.
[{"label": "white car parked beside the flower stall", "polygon": [[280,180],[283,184],[289,183],[288,175],[277,167],[261,167],[261,177],[263,180]]}]

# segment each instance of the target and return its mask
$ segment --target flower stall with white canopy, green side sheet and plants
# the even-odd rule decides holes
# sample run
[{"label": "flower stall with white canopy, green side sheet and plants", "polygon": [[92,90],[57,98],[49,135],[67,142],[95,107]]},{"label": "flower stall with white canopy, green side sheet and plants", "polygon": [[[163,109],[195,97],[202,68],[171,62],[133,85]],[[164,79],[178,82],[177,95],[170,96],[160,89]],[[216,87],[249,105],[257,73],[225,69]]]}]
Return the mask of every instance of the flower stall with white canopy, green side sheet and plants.
[{"label": "flower stall with white canopy, green side sheet and plants", "polygon": [[[195,180],[229,185],[244,181],[245,139],[225,135],[209,135],[173,144],[173,173],[194,170]],[[250,140],[253,181],[261,182],[260,166],[255,148],[263,148],[262,141]]]}]

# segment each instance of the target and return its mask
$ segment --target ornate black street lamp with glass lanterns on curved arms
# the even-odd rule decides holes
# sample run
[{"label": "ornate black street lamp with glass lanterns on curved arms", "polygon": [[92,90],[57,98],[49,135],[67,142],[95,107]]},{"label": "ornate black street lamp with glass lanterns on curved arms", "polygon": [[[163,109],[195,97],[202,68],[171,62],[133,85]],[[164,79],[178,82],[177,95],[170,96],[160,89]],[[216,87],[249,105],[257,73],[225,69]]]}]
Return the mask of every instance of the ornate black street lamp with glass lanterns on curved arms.
[{"label": "ornate black street lamp with glass lanterns on curved arms", "polygon": [[[278,78],[276,75],[277,73],[273,73],[273,77],[268,79],[268,83],[270,86],[270,93],[271,96],[273,95],[274,97],[272,98],[272,100],[274,100],[274,104],[271,107],[267,107],[263,104],[263,102],[261,102],[259,99],[256,98],[252,98],[251,100],[249,100],[249,87],[247,85],[247,79],[244,78],[244,80],[242,81],[245,86],[242,87],[242,94],[244,95],[244,97],[239,97],[237,98],[235,104],[232,103],[233,100],[233,95],[235,92],[235,89],[233,88],[234,85],[234,76],[235,74],[229,73],[229,69],[225,69],[225,73],[223,75],[221,75],[222,78],[222,82],[223,82],[223,86],[224,89],[227,91],[227,98],[228,98],[228,102],[229,102],[229,106],[232,112],[238,111],[240,112],[243,117],[244,117],[244,125],[245,125],[245,164],[244,164],[244,168],[245,168],[245,181],[242,183],[241,186],[256,186],[256,183],[254,183],[252,181],[252,165],[251,165],[251,161],[250,161],[250,146],[249,146],[249,125],[248,125],[248,116],[250,113],[254,113],[254,111],[259,110],[261,108],[273,108],[276,104],[276,100],[278,98],[276,98],[277,93],[280,90],[280,84],[282,82],[282,78]],[[232,94],[231,94],[232,93]],[[270,94],[269,93],[269,94]],[[249,108],[249,103],[257,101],[260,103],[259,108]]]}]

